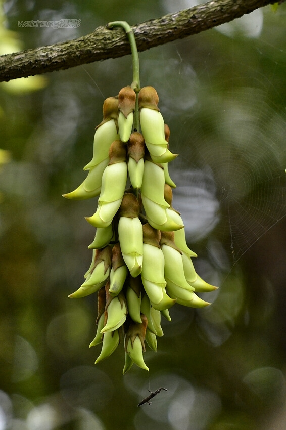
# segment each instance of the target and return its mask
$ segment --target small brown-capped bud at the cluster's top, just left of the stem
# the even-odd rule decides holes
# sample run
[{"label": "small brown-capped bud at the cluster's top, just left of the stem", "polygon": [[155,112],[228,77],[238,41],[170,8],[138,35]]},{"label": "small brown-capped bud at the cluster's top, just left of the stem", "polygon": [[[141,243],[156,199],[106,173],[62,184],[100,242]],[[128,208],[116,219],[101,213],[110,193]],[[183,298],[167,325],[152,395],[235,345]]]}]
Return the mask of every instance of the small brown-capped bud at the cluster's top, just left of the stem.
[{"label": "small brown-capped bud at the cluster's top, just left of the stem", "polygon": [[130,87],[124,87],[118,94],[118,128],[122,142],[130,138],[133,126],[133,112],[135,110],[136,93]]}]

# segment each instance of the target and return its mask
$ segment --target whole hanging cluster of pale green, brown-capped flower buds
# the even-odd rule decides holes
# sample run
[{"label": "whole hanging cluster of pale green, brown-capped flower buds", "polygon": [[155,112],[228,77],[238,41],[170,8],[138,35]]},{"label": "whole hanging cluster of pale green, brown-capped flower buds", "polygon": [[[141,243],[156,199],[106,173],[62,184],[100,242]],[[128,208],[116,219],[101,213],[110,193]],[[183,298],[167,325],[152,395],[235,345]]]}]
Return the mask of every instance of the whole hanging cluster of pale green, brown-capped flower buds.
[{"label": "whole hanging cluster of pale green, brown-capped flower buds", "polygon": [[[92,262],[81,287],[69,297],[98,293],[97,333],[90,347],[102,343],[96,363],[109,357],[124,336],[123,374],[133,363],[148,370],[145,341],[157,350],[161,315],[176,302],[200,308],[209,305],[196,292],[216,287],[196,273],[184,224],[172,207],[175,184],[168,162],[169,128],[158,108],[153,87],[136,97],[131,87],[103,105],[103,121],[94,135],[93,157],[84,167],[86,179],[64,197],[74,200],[99,195],[96,212],[86,220],[96,227],[89,248]],[[138,103],[138,105],[137,105]],[[141,133],[133,128],[139,114]]]}]

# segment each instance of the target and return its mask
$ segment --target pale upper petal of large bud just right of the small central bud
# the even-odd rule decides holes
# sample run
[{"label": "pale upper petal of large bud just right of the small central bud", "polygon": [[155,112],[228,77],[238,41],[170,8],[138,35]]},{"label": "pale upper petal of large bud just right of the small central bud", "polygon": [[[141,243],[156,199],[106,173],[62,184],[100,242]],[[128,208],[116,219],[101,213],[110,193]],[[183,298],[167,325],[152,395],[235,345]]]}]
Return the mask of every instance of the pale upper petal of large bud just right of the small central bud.
[{"label": "pale upper petal of large bud just right of the small central bud", "polygon": [[163,207],[169,207],[170,205],[164,199],[164,187],[165,176],[162,166],[146,160],[141,185],[141,195],[144,195]]}]

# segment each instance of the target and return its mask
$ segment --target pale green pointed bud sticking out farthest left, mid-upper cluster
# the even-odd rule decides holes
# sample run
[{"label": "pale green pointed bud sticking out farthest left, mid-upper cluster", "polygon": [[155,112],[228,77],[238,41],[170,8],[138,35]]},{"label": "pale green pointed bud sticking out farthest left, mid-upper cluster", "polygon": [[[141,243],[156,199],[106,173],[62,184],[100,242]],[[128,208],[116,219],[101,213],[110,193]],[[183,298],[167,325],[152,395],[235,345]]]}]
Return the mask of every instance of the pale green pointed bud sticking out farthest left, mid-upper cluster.
[{"label": "pale green pointed bud sticking out farthest left, mid-upper cluster", "polygon": [[109,157],[96,166],[90,167],[85,180],[74,191],[63,194],[63,197],[72,200],[85,200],[98,196],[101,192],[102,176],[108,163]]}]

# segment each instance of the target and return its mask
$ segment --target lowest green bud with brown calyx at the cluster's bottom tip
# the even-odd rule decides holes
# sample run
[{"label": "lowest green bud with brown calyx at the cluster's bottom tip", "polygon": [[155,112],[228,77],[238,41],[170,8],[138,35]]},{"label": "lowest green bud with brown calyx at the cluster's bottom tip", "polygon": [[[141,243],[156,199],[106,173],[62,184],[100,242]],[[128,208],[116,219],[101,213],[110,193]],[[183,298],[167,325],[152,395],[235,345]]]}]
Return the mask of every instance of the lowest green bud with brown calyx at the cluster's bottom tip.
[{"label": "lowest green bud with brown calyx at the cluster's bottom tip", "polygon": [[[141,323],[131,322],[125,335],[125,351],[131,360],[141,369],[149,370],[143,359],[145,351],[144,339],[147,327],[147,318],[141,315]],[[131,366],[130,366],[131,367]]]}]

